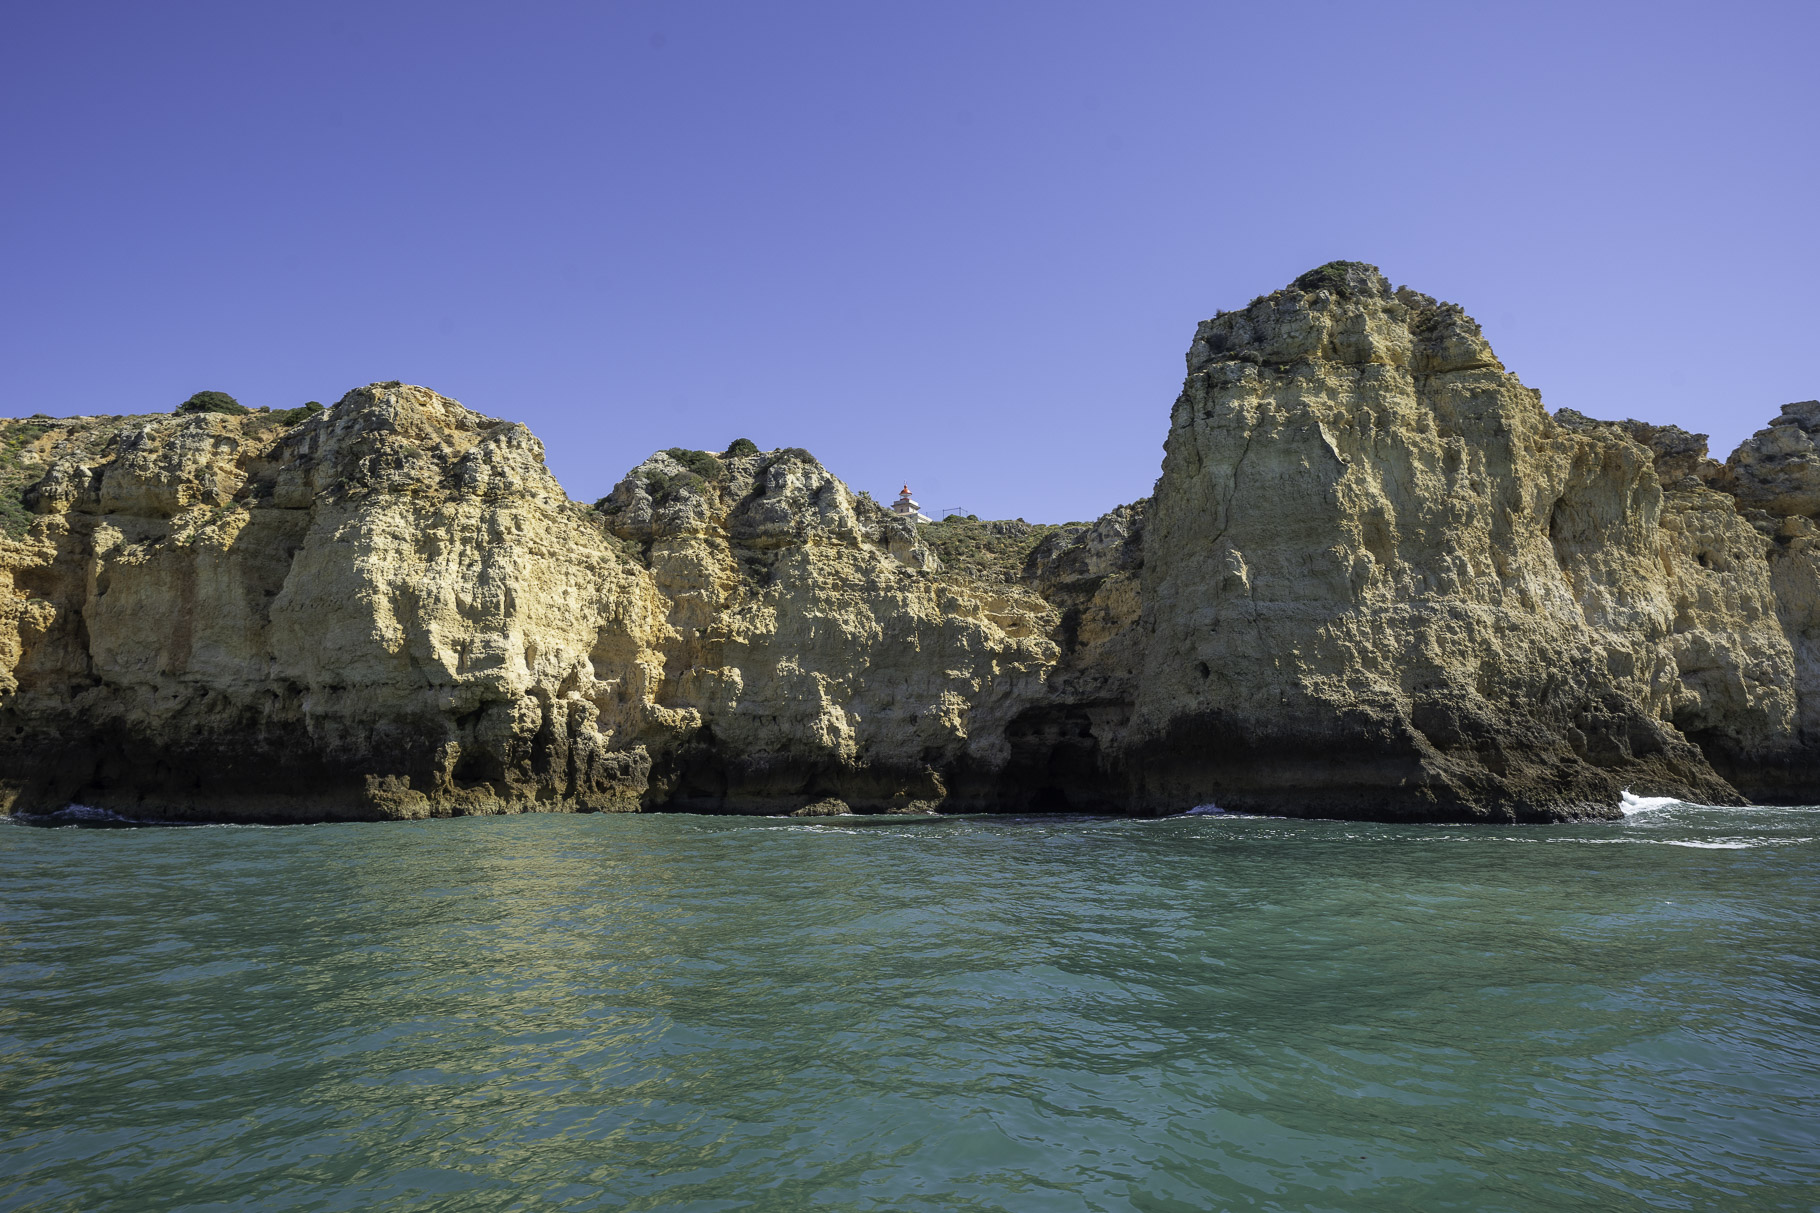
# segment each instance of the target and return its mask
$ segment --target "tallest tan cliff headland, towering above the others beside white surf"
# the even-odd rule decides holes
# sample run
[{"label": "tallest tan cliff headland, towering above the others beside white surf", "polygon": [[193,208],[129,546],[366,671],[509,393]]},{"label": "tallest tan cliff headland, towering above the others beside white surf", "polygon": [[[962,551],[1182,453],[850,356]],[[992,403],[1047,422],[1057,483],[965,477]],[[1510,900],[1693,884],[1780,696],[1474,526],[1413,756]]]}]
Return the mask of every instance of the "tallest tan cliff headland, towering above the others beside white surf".
[{"label": "tallest tan cliff headland, towering above the others beside white surf", "polygon": [[1762,541],[1551,419],[1476,322],[1338,264],[1199,326],[1145,534],[1138,803],[1547,818],[1785,745]]}]

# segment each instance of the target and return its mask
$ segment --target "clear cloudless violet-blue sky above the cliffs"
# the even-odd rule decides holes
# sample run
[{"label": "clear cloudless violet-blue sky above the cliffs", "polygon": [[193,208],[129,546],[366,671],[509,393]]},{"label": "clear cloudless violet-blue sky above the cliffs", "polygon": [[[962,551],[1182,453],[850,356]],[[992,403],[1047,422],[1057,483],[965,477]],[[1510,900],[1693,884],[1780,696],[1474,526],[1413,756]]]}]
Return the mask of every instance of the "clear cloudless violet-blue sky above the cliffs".
[{"label": "clear cloudless violet-blue sky above the cliffs", "polygon": [[1820,395],[1820,5],[13,4],[0,415],[420,382],[1092,517],[1330,259],[1720,455]]}]

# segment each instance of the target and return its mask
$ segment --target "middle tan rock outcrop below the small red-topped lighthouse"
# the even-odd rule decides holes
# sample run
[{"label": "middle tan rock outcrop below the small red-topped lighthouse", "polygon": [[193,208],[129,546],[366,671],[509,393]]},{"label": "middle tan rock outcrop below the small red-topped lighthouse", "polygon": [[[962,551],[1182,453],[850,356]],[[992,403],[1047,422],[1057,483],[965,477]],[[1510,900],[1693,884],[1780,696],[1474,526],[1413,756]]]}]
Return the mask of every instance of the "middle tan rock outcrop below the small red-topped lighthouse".
[{"label": "middle tan rock outcrop below the small red-topped lighthouse", "polygon": [[1005,727],[1041,696],[1054,612],[950,579],[906,519],[808,452],[672,454],[601,503],[666,603],[661,705],[688,718],[650,796],[775,812],[996,807]]}]

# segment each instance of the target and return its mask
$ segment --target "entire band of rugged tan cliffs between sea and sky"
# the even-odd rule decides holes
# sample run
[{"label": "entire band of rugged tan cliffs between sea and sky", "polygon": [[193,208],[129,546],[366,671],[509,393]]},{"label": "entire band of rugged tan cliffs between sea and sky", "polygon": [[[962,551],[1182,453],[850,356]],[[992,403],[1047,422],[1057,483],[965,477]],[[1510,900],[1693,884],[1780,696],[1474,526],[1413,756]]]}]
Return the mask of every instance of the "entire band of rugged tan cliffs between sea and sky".
[{"label": "entire band of rugged tan cliffs between sea and sky", "polygon": [[1092,525],[919,530],[750,444],[584,506],[402,384],[0,430],[11,810],[1820,796],[1820,404],[1725,464],[1551,417],[1370,266],[1201,324],[1156,494]]}]

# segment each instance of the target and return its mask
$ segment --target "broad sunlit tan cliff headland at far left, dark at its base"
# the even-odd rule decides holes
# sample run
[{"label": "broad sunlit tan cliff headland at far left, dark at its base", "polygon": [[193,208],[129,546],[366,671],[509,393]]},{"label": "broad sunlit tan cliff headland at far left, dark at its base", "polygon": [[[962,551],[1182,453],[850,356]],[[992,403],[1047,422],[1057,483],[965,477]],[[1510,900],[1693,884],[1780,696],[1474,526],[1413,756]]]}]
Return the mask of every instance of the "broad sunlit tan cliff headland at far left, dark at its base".
[{"label": "broad sunlit tan cliff headland at far left, dark at its base", "polygon": [[124,428],[93,461],[56,459],[27,501],[42,519],[5,561],[22,616],[0,699],[15,809],[639,801],[650,758],[621,738],[639,707],[566,688],[593,612],[621,623],[639,670],[662,608],[524,426],[377,384],[295,428],[207,413]]}]

